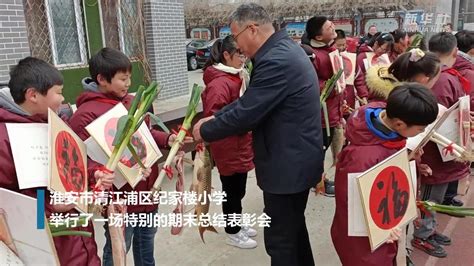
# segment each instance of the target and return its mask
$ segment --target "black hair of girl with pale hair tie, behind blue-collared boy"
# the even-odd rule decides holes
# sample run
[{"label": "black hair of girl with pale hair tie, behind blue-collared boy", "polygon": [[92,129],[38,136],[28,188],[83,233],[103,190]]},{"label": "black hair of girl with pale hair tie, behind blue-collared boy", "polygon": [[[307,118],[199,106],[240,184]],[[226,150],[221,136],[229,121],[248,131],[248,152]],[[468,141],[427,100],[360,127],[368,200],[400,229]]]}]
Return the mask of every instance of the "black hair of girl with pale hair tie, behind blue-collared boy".
[{"label": "black hair of girl with pale hair tie, behind blue-collared boy", "polygon": [[410,61],[411,52],[401,54],[390,65],[388,72],[399,81],[413,81],[418,74],[424,74],[432,79],[440,71],[440,60],[434,53],[424,53],[425,55],[416,62]]}]

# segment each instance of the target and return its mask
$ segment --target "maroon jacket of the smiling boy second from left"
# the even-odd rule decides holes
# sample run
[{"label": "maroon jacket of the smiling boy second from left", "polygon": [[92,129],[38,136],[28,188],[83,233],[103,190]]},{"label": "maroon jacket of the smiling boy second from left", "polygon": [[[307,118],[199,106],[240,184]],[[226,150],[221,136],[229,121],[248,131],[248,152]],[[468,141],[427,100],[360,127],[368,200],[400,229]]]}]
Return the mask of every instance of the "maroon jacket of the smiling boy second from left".
[{"label": "maroon jacket of the smiling boy second from left", "polygon": [[[86,91],[81,93],[81,95],[79,95],[77,98],[77,111],[71,117],[70,124],[72,130],[74,130],[82,140],[86,140],[89,138],[89,133],[85,129],[87,125],[89,125],[102,114],[112,109],[112,107],[114,107],[119,102],[122,102],[126,108],[129,108],[133,101],[133,96],[127,95],[123,99],[118,99],[97,91],[93,91],[90,88],[94,88],[96,85],[90,79],[84,80],[83,85],[86,88]],[[153,129],[151,130],[151,134],[158,147],[165,148],[168,146],[168,134]],[[96,183],[94,172],[99,168],[100,165],[93,162],[92,160],[89,160],[88,164],[89,182],[91,185],[94,185]],[[150,191],[158,177],[159,172],[157,164],[154,164],[151,167],[151,170],[150,176],[146,180],[140,181],[135,186],[135,189],[132,189],[132,187],[127,183],[120,189],[114,187],[114,191]],[[127,206],[127,212],[152,212],[155,211],[157,207],[157,205],[131,205]]]}]

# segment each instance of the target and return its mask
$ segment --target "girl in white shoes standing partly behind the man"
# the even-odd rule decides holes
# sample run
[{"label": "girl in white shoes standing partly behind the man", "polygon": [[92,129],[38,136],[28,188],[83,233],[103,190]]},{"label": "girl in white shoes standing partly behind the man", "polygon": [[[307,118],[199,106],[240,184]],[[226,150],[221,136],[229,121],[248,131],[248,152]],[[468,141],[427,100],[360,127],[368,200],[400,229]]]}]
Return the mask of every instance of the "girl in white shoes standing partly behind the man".
[{"label": "girl in white shoes standing partly behind the man", "polygon": [[[230,36],[214,43],[211,57],[204,66],[206,89],[202,93],[202,108],[205,117],[214,115],[243,95],[248,80],[244,62],[245,56],[238,52]],[[257,242],[250,237],[256,236],[257,231],[248,226],[232,225],[229,219],[232,213],[242,214],[247,173],[255,168],[252,133],[230,136],[209,145],[219,170],[222,190],[226,193],[227,201],[222,203],[222,212],[227,217],[226,243],[238,248],[255,248]]]}]

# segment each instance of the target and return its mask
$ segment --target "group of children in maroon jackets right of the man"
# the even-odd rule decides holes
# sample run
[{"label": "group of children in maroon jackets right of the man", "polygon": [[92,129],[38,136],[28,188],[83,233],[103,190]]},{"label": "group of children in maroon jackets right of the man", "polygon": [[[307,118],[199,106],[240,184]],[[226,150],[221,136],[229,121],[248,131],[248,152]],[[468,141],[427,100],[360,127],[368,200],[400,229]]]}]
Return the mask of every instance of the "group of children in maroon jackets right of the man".
[{"label": "group of children in maroon jackets right of the man", "polygon": [[[329,53],[345,51],[345,34],[322,16],[308,20],[306,34],[308,39],[302,46],[305,50],[312,48],[311,60],[322,89],[334,75]],[[335,129],[343,127],[346,139],[345,147],[336,151],[336,211],[331,226],[333,244],[343,265],[393,265],[399,248],[394,237],[371,252],[367,237],[348,235],[348,174],[364,172],[403,149],[407,138],[423,132],[435,121],[438,105],[449,108],[465,95],[471,95],[471,103],[473,100],[474,32],[460,31],[456,36],[438,33],[429,40],[429,51],[421,46],[408,51],[409,42],[408,34],[401,30],[374,34],[358,49],[354,84],[339,94],[333,91],[326,102],[331,135],[324,138],[325,150],[336,138]],[[372,62],[379,64],[367,64],[368,53],[373,53],[377,60]],[[354,98],[358,99],[359,108]],[[347,105],[351,108],[344,108]],[[354,109],[349,116],[344,114],[345,110]],[[324,118],[322,127],[324,131]],[[457,181],[470,174],[469,164],[443,162],[433,142],[416,158],[421,184],[417,197],[460,205],[453,197],[457,195]],[[454,192],[446,201],[451,186]],[[445,257],[443,246],[451,244],[451,239],[436,231],[435,218],[433,212],[421,213],[414,222],[411,243],[432,256]],[[394,235],[398,235],[397,231]]]}]

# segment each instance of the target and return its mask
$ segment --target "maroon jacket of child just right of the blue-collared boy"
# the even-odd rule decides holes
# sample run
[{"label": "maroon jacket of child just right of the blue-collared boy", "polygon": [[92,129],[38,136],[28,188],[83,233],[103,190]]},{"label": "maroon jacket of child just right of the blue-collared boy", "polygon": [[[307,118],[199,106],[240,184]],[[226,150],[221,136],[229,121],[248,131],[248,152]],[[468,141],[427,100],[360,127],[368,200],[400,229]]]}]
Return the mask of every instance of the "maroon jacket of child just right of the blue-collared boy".
[{"label": "maroon jacket of child just right of the blue-collared boy", "polygon": [[[466,95],[458,77],[446,72],[448,68],[443,67],[439,80],[434,84],[432,91],[436,96],[438,103],[449,108],[455,104],[459,97]],[[429,142],[423,148],[423,163],[429,165],[433,174],[431,176],[423,176],[422,184],[444,184],[451,181],[459,180],[469,174],[469,164],[449,161],[443,162],[438,147],[434,142]]]}]

